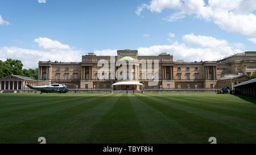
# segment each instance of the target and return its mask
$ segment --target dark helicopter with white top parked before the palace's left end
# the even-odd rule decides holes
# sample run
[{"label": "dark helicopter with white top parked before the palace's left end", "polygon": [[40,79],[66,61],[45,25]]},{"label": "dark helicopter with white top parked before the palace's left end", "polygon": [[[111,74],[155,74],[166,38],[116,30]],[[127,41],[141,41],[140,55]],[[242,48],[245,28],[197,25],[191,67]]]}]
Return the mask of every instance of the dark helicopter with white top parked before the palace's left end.
[{"label": "dark helicopter with white top parked before the palace's left end", "polygon": [[68,92],[68,88],[66,85],[64,84],[59,84],[59,83],[53,83],[52,85],[49,86],[31,86],[29,84],[27,84],[27,86],[30,89],[34,89],[34,90],[38,90],[42,93],[67,93]]}]

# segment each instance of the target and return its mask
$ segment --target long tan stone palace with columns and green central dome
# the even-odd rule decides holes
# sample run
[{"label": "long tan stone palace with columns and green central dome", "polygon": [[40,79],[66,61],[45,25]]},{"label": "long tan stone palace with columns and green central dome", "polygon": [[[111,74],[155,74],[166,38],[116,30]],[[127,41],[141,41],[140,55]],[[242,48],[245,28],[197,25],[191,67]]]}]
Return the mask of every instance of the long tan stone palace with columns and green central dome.
[{"label": "long tan stone palace with columns and green central dome", "polygon": [[[139,56],[118,50],[117,56],[82,56],[81,62],[39,61],[38,85],[64,83],[69,89],[219,89],[250,79],[256,52],[243,52],[217,61],[173,60],[167,53]],[[237,82],[237,83],[234,83]],[[230,84],[231,83],[231,84]]]}]

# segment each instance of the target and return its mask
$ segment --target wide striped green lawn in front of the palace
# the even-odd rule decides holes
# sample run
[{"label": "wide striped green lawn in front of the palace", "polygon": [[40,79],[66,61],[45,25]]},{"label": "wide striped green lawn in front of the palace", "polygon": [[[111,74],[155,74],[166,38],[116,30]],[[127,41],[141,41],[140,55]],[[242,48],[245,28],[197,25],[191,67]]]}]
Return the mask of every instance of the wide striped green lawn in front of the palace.
[{"label": "wide striped green lawn in front of the palace", "polygon": [[256,99],[218,94],[0,94],[0,143],[256,143]]}]

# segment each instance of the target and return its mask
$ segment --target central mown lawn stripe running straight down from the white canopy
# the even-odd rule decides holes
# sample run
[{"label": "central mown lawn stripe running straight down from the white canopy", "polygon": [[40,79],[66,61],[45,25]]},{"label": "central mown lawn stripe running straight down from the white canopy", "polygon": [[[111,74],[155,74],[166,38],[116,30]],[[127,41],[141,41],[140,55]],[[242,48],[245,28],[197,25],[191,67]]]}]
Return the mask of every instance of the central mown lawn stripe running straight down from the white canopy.
[{"label": "central mown lawn stripe running straight down from the white canopy", "polygon": [[138,124],[127,94],[122,94],[101,122],[92,128],[89,143],[142,143],[143,133]]}]

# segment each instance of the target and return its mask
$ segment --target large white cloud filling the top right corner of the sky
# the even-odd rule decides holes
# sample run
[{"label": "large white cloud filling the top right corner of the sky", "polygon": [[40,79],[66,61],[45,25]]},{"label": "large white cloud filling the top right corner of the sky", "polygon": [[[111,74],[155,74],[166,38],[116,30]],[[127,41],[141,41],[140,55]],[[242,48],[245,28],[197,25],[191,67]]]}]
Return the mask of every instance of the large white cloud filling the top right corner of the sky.
[{"label": "large white cloud filling the top right corner of the sky", "polygon": [[254,0],[152,0],[143,9],[151,12],[162,12],[164,9],[176,11],[164,18],[168,22],[193,15],[197,18],[212,21],[225,31],[240,33],[245,36],[256,36],[256,3]]}]

